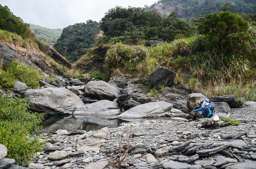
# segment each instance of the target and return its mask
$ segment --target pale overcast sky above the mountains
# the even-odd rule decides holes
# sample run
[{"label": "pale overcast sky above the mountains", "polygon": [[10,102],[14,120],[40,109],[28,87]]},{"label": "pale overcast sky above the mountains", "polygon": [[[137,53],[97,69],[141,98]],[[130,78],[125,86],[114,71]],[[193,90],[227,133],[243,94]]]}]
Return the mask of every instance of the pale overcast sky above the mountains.
[{"label": "pale overcast sky above the mountains", "polygon": [[0,0],[26,23],[56,29],[88,19],[100,21],[115,6],[144,7],[157,0]]}]

